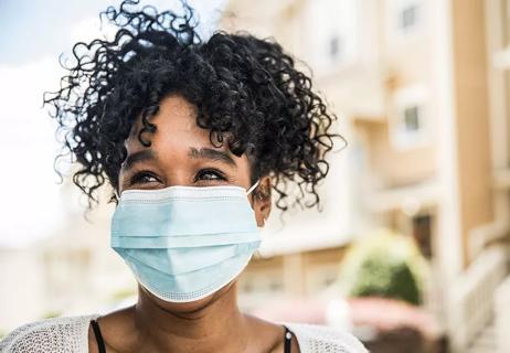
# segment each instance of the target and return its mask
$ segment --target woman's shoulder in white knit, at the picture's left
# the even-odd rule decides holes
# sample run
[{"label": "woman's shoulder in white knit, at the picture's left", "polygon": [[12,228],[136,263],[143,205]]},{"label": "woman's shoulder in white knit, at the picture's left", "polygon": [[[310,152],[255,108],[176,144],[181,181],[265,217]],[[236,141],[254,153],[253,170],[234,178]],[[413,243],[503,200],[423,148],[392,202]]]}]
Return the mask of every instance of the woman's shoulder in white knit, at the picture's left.
[{"label": "woman's shoulder in white knit, at the picture's left", "polygon": [[88,325],[95,317],[54,318],[23,324],[0,341],[0,352],[87,352]]}]

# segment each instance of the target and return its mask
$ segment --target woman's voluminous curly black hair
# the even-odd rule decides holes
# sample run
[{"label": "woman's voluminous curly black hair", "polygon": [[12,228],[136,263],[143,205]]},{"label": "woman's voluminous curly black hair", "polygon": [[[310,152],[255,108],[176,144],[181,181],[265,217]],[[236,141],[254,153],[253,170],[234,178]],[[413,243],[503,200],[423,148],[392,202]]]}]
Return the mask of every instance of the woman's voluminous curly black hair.
[{"label": "woman's voluminous curly black hair", "polygon": [[[75,157],[73,182],[88,208],[106,181],[118,192],[124,142],[136,118],[141,115],[138,139],[148,147],[142,135],[156,131],[150,119],[172,94],[198,108],[196,124],[210,130],[211,142],[249,157],[252,182],[272,176],[277,207],[288,207],[289,183],[298,186],[293,204],[319,205],[316,186],[329,169],[325,156],[341,136],[331,132],[337,117],[312,90],[310,76],[273,39],[217,31],[202,41],[185,2],[180,14],[137,9],[138,2],[102,12],[118,28],[115,39],[74,44],[73,64],[61,63],[67,74],[60,89],[44,95],[63,132],[55,165]],[[115,193],[110,202],[118,202]]]}]

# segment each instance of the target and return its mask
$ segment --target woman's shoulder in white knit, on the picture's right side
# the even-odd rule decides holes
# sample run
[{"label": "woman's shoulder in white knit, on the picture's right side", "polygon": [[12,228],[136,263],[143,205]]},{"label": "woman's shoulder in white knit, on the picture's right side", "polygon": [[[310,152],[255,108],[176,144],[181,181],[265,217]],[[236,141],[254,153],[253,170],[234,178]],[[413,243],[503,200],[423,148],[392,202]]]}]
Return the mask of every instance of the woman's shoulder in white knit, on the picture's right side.
[{"label": "woman's shoulder in white knit, on the picture's right side", "polygon": [[352,334],[331,327],[305,323],[289,323],[301,353],[368,353],[363,344]]}]

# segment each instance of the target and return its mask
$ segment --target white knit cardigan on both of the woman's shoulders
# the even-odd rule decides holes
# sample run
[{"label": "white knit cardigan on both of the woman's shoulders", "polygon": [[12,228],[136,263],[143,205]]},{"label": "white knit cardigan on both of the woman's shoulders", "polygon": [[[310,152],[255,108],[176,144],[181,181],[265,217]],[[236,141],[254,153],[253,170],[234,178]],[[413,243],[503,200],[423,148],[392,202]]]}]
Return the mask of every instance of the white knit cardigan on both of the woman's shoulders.
[{"label": "white knit cardigan on both of the woman's shoulders", "polygon": [[[55,318],[24,324],[0,341],[1,353],[87,353],[88,327],[98,314]],[[339,330],[289,323],[301,353],[365,353],[353,335]]]}]

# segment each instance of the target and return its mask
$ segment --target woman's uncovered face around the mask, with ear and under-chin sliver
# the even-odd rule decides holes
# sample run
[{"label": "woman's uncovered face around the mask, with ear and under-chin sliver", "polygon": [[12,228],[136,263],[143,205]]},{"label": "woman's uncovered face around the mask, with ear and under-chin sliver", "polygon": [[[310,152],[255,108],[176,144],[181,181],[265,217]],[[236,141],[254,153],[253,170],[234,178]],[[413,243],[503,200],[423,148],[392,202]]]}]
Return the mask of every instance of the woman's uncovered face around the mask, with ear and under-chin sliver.
[{"label": "woman's uncovered face around the mask, with ear and under-chin sliver", "polygon": [[[170,96],[161,100],[159,113],[151,118],[157,126],[155,133],[144,133],[142,139],[150,140],[145,147],[138,140],[142,127],[138,118],[129,138],[126,140],[127,158],[119,173],[119,193],[128,189],[156,190],[172,185],[214,186],[237,185],[249,189],[251,165],[247,157],[236,157],[223,147],[214,147],[209,130],[200,128],[193,105],[180,96]],[[258,226],[264,225],[270,211],[270,181],[265,176],[258,189],[266,197],[248,195]],[[196,310],[212,302],[214,298],[227,291],[231,285],[219,292],[192,303],[167,303],[152,297],[160,307],[168,310]],[[145,292],[145,291],[144,291]]]}]

